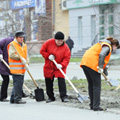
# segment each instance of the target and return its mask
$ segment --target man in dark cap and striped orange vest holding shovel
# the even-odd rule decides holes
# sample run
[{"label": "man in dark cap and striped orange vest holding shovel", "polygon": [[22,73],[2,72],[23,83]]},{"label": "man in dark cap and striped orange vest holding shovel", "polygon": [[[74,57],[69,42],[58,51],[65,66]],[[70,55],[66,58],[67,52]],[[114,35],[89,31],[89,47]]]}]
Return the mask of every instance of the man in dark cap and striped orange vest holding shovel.
[{"label": "man in dark cap and striped orange vest holding shovel", "polygon": [[[10,103],[25,104],[22,100],[22,86],[24,82],[24,74],[28,69],[27,45],[24,43],[24,32],[18,31],[15,33],[15,39],[8,45],[8,61],[10,72],[13,78],[13,90],[10,98]],[[22,61],[16,50],[20,54]],[[26,66],[26,68],[25,68]]]}]

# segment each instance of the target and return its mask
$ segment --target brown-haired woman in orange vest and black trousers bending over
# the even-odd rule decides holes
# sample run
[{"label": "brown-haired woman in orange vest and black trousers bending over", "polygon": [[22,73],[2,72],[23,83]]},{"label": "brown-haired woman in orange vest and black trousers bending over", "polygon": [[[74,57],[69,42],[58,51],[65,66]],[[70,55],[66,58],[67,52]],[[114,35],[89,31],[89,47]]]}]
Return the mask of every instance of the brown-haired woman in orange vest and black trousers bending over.
[{"label": "brown-haired woman in orange vest and black trousers bending over", "polygon": [[[88,92],[90,97],[90,109],[94,111],[103,111],[104,108],[100,107],[100,93],[101,93],[101,72],[106,75],[106,65],[109,62],[111,52],[119,47],[118,40],[109,37],[102,40],[89,48],[84,56],[80,67],[83,68],[85,76],[88,81]],[[100,70],[98,70],[98,67]]]}]

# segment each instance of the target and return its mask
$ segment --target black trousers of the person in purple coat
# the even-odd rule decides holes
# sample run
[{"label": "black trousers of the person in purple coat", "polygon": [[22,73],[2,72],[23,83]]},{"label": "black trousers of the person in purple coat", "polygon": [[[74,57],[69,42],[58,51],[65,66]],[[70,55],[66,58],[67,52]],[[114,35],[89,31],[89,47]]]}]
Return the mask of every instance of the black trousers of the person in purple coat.
[{"label": "black trousers of the person in purple coat", "polygon": [[3,75],[1,74],[3,81],[1,85],[1,93],[0,93],[0,100],[6,99],[7,98],[7,90],[8,90],[8,85],[9,85],[9,75]]}]

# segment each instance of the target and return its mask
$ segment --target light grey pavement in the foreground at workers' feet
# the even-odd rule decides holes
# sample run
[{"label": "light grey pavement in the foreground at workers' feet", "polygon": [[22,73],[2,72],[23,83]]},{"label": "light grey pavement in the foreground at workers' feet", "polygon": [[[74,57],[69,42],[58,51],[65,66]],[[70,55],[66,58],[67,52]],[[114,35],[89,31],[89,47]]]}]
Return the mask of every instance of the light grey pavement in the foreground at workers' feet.
[{"label": "light grey pavement in the foreground at workers' feet", "polygon": [[0,102],[0,120],[120,120],[120,114],[111,112],[94,112],[52,103],[36,102],[30,98],[26,104]]}]

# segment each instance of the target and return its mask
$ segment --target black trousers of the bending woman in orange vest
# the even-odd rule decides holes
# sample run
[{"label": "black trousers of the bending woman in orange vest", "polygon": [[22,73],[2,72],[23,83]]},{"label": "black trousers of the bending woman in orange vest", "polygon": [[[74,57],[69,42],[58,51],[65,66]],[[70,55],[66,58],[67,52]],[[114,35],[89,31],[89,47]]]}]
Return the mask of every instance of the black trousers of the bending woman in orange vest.
[{"label": "black trousers of the bending woman in orange vest", "polygon": [[86,66],[82,66],[82,68],[88,81],[90,107],[97,109],[100,106],[101,75]]}]

